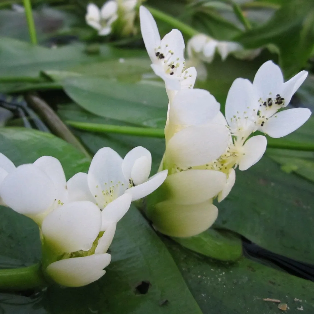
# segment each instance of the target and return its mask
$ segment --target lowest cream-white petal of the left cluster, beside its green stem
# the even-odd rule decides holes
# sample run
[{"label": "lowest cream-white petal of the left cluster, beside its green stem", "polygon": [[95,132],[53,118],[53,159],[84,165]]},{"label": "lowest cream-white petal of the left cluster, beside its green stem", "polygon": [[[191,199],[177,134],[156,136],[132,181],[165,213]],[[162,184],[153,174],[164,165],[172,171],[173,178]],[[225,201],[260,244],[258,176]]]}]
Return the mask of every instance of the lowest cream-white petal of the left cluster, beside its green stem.
[{"label": "lowest cream-white petal of the left cluster, beside its green stem", "polygon": [[93,254],[84,257],[62,259],[46,268],[47,274],[58,284],[67,287],[81,287],[90,284],[106,271],[111,262],[110,254]]}]

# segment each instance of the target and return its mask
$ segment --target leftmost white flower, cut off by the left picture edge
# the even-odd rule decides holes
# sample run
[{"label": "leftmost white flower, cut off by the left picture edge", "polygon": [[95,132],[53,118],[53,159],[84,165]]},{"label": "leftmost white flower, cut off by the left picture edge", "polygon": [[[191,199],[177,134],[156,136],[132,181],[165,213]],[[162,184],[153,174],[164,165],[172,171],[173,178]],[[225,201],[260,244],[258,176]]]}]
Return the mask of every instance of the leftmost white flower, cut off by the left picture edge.
[{"label": "leftmost white flower, cut off by the left picture edge", "polygon": [[46,214],[68,200],[64,171],[59,160],[54,157],[43,156],[33,164],[15,168],[1,154],[0,176],[0,197],[3,203],[32,218],[39,225]]}]

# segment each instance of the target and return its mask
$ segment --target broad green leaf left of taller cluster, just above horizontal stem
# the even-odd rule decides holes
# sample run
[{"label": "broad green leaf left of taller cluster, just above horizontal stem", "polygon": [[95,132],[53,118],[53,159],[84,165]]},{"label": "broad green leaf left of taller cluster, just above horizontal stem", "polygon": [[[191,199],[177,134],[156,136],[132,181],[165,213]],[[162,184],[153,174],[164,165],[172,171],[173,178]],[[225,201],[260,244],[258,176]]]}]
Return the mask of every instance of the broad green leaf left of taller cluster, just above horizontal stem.
[{"label": "broad green leaf left of taller cluster, just above horizontal stem", "polygon": [[148,127],[165,125],[168,98],[159,84],[78,77],[68,78],[62,85],[78,105],[98,116]]}]

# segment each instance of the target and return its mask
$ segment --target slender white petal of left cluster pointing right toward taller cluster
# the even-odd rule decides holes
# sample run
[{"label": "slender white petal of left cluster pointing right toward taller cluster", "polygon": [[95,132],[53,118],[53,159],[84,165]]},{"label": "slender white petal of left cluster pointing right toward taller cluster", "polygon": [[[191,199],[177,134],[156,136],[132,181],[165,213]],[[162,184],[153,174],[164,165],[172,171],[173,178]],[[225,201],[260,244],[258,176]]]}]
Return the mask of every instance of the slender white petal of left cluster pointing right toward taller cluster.
[{"label": "slender white petal of left cluster pointing right toward taller cluster", "polygon": [[156,173],[154,176],[150,177],[146,182],[127,189],[126,193],[132,195],[132,201],[136,201],[143,198],[150,193],[154,192],[158,187],[162,185],[167,177],[167,170]]}]

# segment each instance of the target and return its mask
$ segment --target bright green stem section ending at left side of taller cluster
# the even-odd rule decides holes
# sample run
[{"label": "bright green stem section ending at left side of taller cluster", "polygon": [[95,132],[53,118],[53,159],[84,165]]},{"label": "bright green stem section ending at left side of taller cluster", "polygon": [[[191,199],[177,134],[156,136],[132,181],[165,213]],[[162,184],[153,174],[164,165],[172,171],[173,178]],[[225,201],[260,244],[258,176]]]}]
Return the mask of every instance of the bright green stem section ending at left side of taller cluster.
[{"label": "bright green stem section ending at left side of taller cluster", "polygon": [[77,122],[77,121],[66,121],[66,123],[77,129],[100,132],[100,133],[118,133],[136,136],[147,136],[164,138],[163,129],[155,129],[150,127],[126,127],[114,124],[100,124],[100,123],[89,123],[89,122]]}]

